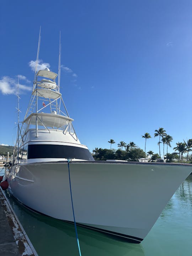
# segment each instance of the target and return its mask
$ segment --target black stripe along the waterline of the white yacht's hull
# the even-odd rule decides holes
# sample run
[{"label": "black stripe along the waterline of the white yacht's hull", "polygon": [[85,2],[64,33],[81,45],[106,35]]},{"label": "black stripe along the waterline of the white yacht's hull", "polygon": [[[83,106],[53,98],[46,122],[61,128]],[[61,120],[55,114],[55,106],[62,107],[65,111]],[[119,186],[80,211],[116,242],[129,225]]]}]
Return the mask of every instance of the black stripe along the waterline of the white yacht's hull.
[{"label": "black stripe along the waterline of the white yacht's hull", "polygon": [[[11,192],[10,192],[11,193]],[[13,194],[11,194],[11,196],[13,196]],[[14,197],[14,196],[13,196]],[[47,214],[44,214],[44,213],[41,213],[41,212],[38,212],[37,210],[34,210],[33,208],[27,206],[26,204],[23,204],[21,201],[19,201],[16,197],[14,197],[22,206],[26,207],[27,209],[31,210],[32,212],[35,212],[35,213],[38,213],[38,214],[41,214],[41,215],[44,215],[44,216],[47,216],[47,217],[51,217]],[[53,218],[53,217],[51,217]],[[55,219],[55,218],[54,218]],[[62,220],[62,219],[59,219],[59,220]],[[74,224],[74,222],[71,222],[69,220],[62,220],[64,222],[67,222],[67,223],[70,223],[70,224]],[[126,240],[127,242],[130,242],[130,243],[133,243],[133,244],[140,244],[140,242],[143,241],[142,238],[137,238],[135,236],[129,236],[129,235],[125,235],[125,234],[121,234],[121,233],[117,233],[117,232],[113,232],[113,231],[110,231],[110,230],[106,230],[106,229],[100,229],[100,228],[96,228],[96,227],[93,227],[93,226],[89,226],[89,225],[85,225],[85,224],[81,224],[81,223],[78,223],[76,222],[76,225],[77,226],[81,226],[83,228],[87,228],[87,229],[92,229],[92,230],[96,230],[100,233],[105,233],[107,235],[111,235],[113,237],[118,237],[119,239],[121,240]]]}]

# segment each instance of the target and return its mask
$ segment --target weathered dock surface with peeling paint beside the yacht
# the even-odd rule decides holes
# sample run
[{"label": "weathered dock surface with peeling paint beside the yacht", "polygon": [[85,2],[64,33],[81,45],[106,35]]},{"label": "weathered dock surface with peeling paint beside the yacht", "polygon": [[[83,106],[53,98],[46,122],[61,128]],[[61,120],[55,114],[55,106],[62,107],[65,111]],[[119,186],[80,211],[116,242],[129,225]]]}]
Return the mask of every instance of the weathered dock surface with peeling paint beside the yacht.
[{"label": "weathered dock surface with peeling paint beside the yacht", "polygon": [[38,256],[0,187],[0,256]]}]

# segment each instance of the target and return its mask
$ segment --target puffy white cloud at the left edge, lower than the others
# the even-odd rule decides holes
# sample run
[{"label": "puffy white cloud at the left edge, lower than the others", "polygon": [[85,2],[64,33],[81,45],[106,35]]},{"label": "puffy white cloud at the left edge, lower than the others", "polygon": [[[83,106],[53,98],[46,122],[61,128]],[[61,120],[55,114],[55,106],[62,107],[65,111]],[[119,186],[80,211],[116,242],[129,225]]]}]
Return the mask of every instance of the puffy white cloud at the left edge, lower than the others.
[{"label": "puffy white cloud at the left edge, lower than the others", "polygon": [[[0,79],[0,91],[2,94],[17,94],[18,81],[17,79],[10,78],[9,76],[3,76]],[[32,87],[19,84],[20,94],[25,91],[31,91]]]}]

